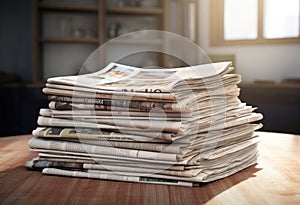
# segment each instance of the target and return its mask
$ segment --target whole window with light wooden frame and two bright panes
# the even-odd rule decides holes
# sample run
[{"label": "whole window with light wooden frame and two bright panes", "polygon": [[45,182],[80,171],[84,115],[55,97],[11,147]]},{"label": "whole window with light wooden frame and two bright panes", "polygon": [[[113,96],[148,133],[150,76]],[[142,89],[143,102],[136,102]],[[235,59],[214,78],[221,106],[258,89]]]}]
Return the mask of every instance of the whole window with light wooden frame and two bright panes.
[{"label": "whole window with light wooden frame and two bright panes", "polygon": [[211,0],[211,44],[300,43],[300,0]]}]

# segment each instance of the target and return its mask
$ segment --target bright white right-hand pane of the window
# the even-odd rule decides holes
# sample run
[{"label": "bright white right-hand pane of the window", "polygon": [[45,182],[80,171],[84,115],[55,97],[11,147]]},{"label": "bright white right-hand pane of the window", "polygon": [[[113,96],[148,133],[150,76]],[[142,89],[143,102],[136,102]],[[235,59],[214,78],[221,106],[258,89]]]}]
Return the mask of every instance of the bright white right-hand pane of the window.
[{"label": "bright white right-hand pane of the window", "polygon": [[265,38],[299,36],[299,0],[264,0]]}]

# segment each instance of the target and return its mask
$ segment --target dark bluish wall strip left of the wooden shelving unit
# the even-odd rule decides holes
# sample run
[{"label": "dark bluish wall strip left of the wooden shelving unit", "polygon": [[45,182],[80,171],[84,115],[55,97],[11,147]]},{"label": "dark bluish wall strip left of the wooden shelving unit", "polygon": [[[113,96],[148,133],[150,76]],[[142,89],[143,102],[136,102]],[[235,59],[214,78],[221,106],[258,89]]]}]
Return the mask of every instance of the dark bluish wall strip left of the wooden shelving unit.
[{"label": "dark bluish wall strip left of the wooden shelving unit", "polygon": [[1,0],[0,72],[14,73],[22,81],[32,79],[31,1]]}]

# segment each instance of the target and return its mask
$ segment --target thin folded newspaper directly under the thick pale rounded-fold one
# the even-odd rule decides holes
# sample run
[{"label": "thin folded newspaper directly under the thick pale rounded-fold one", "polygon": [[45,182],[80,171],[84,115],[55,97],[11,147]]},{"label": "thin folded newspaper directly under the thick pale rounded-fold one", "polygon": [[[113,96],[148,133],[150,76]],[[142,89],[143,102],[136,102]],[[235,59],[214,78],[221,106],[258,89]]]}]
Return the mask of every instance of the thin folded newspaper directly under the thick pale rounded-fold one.
[{"label": "thin folded newspaper directly under the thick pale rounded-fold one", "polygon": [[[121,157],[116,155],[101,155],[101,154],[91,154],[86,152],[72,152],[72,151],[60,151],[55,149],[38,149],[35,148],[33,151],[38,151],[40,154],[39,156],[46,156],[46,157],[54,157],[54,158],[75,158],[75,159],[92,159],[95,160],[97,164],[118,164],[122,165],[125,164],[131,165],[133,167],[152,167],[153,169],[162,170],[164,167],[165,169],[170,169],[171,167],[178,167],[184,165],[185,169],[199,169],[206,167],[207,169],[213,167],[220,167],[220,166],[227,166],[226,163],[230,160],[237,160],[239,158],[243,158],[245,155],[256,151],[256,144],[257,140],[247,140],[242,143],[243,146],[239,147],[232,146],[230,149],[224,150],[223,148],[217,149],[211,158],[203,158],[205,153],[199,155],[193,155],[190,157],[186,157],[182,161],[174,163],[174,161],[164,161],[164,160],[152,160],[152,159],[145,159],[145,158],[136,158],[136,157]],[[222,150],[223,149],[223,150]],[[224,164],[225,163],[225,164]],[[123,166],[123,165],[122,165]],[[174,170],[174,169],[173,169]],[[181,169],[182,170],[182,169]]]}]

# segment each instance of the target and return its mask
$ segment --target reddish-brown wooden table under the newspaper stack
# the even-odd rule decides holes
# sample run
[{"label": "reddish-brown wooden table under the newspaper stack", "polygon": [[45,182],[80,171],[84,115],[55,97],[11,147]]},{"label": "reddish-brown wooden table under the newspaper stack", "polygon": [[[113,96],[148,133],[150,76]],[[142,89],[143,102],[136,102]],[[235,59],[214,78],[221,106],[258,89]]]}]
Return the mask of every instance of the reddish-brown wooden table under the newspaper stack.
[{"label": "reddish-brown wooden table under the newspaper stack", "polygon": [[45,176],[24,167],[31,135],[0,138],[0,203],[300,204],[300,135],[259,133],[256,166],[196,188]]}]

